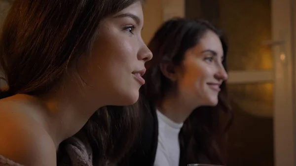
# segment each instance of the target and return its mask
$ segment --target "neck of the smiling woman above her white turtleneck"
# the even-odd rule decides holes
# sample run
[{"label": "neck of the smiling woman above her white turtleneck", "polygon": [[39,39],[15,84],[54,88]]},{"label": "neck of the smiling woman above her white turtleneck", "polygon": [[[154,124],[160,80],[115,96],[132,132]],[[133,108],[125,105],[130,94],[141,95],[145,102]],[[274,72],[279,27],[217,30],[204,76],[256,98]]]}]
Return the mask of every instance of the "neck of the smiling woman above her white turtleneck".
[{"label": "neck of the smiling woman above her white turtleneck", "polygon": [[196,102],[190,102],[182,95],[167,95],[158,104],[158,110],[176,123],[183,123],[191,112],[198,107]]}]

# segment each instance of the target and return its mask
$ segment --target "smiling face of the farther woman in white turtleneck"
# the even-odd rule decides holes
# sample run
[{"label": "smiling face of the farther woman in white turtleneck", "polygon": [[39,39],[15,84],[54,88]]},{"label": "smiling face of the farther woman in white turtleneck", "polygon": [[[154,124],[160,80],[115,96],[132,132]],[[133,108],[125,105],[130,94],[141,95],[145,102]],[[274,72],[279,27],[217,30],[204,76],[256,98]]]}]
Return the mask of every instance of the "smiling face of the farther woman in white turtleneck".
[{"label": "smiling face of the farther woman in white turtleneck", "polygon": [[178,91],[198,105],[216,105],[220,85],[227,79],[222,66],[223,48],[219,36],[206,32],[199,43],[185,53],[177,70]]}]

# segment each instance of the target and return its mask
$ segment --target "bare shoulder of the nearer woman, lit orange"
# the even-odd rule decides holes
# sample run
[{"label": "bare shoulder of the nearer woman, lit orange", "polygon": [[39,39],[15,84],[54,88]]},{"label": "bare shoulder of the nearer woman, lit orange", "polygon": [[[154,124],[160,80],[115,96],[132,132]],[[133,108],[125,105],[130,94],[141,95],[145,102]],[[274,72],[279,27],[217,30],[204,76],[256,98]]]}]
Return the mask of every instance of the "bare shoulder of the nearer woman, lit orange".
[{"label": "bare shoulder of the nearer woman, lit orange", "polygon": [[21,109],[0,100],[0,155],[24,166],[56,166],[51,137]]}]

